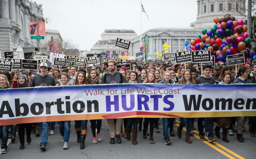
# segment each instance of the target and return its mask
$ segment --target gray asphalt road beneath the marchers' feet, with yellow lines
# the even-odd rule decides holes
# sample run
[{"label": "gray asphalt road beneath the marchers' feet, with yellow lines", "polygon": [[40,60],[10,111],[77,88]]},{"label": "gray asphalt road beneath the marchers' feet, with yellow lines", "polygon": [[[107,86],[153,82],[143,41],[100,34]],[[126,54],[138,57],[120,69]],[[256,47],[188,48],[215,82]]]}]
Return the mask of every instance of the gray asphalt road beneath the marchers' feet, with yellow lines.
[{"label": "gray asphalt road beneath the marchers' feet, with yellow lines", "polygon": [[[176,118],[179,125],[179,119]],[[88,122],[88,133],[85,139],[85,149],[80,149],[80,143],[76,142],[76,133],[74,129],[74,121],[71,122],[70,139],[68,142],[68,149],[63,149],[63,143],[61,143],[61,135],[59,132],[59,125],[56,123],[55,133],[48,136],[47,150],[40,150],[41,134],[39,137],[32,132],[32,142],[26,143],[25,149],[20,150],[19,136],[17,134],[15,142],[8,142],[8,149],[6,154],[0,154],[0,158],[140,158],[140,159],[155,159],[155,158],[186,158],[186,159],[222,159],[222,158],[256,158],[256,138],[251,137],[248,132],[249,125],[246,123],[244,132],[244,142],[237,141],[236,132],[234,136],[227,136],[229,142],[222,141],[222,138],[214,137],[216,142],[208,143],[207,141],[199,140],[199,135],[195,133],[191,136],[192,144],[185,142],[185,131],[182,131],[182,138],[177,137],[177,125],[174,126],[175,137],[170,137],[172,144],[166,145],[163,140],[163,127],[162,119],[160,122],[160,133],[154,131],[155,144],[149,143],[149,136],[147,139],[142,137],[142,132],[138,132],[137,145],[133,145],[131,140],[122,138],[122,143],[110,144],[110,136],[107,126],[107,120],[102,121],[101,137],[102,141],[93,144],[92,143],[92,132],[89,128]],[[216,125],[214,125],[215,128]],[[197,129],[197,122],[194,127]],[[186,127],[184,128],[186,129]],[[194,131],[194,132],[196,132]],[[220,133],[221,134],[221,133]],[[26,136],[26,135],[25,135]],[[222,134],[221,134],[222,136]],[[26,138],[26,137],[25,137]]]}]

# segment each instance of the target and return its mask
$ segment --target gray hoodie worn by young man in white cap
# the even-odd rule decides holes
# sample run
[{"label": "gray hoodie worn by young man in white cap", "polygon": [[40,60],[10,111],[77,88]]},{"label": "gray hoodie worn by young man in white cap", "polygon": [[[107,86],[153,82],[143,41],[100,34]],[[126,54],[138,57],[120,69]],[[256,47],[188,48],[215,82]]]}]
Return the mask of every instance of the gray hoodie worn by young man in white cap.
[{"label": "gray hoodie worn by young man in white cap", "polygon": [[31,81],[30,87],[42,86],[47,87],[49,85],[55,86],[56,82],[53,76],[46,74],[45,76],[35,75]]}]

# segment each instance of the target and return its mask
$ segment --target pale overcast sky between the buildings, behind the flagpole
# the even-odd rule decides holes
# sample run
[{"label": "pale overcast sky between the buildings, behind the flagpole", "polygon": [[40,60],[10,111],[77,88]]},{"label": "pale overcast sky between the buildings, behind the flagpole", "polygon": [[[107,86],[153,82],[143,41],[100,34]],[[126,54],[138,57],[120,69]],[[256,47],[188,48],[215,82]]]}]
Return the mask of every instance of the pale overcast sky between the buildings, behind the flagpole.
[{"label": "pale overcast sky between the buildings, behind the flagpole", "polygon": [[[140,0],[34,0],[42,4],[46,29],[58,30],[79,50],[90,50],[105,29],[140,34]],[[196,21],[196,0],[142,0],[141,32],[157,27],[189,27]]]}]

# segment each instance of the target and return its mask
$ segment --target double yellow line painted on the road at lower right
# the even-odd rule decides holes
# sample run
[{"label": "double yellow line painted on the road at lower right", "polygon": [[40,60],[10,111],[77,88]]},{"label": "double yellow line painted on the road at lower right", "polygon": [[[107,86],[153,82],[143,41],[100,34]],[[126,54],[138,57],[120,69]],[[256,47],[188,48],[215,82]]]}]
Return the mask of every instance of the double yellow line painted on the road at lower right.
[{"label": "double yellow line painted on the road at lower right", "polygon": [[[181,122],[178,121],[178,120],[176,120],[176,122],[181,123]],[[175,125],[177,125],[177,126],[179,127],[178,124],[175,124]],[[185,128],[183,128],[183,130],[187,131],[187,129],[185,129]],[[197,131],[195,131],[195,130],[193,130],[193,132],[195,132],[196,134],[199,135],[199,132],[197,132]],[[199,136],[197,136],[197,135],[193,135],[193,136],[196,137],[196,138],[198,138],[198,139],[200,139]],[[209,140],[209,138],[206,137],[206,136],[205,136],[204,138],[207,139],[207,140]],[[214,148],[215,150],[219,151],[219,152],[222,153],[223,155],[225,155],[225,156],[228,155],[228,156],[227,156],[228,158],[230,158],[230,157],[231,157],[231,158],[234,158],[234,157],[230,156],[229,154],[227,154],[226,152],[224,152],[224,151],[220,150],[219,148],[213,146],[213,145],[210,144],[208,141],[203,141],[203,142],[206,143],[207,145],[211,146],[211,147]],[[211,143],[213,143],[213,144],[219,146],[219,147],[222,148],[223,150],[229,152],[230,154],[234,155],[235,157],[238,157],[239,159],[245,159],[245,158],[243,158],[242,156],[240,156],[240,155],[234,153],[233,151],[229,150],[228,148],[222,146],[221,144],[219,144],[219,143],[217,143],[217,142],[211,142]]]}]

